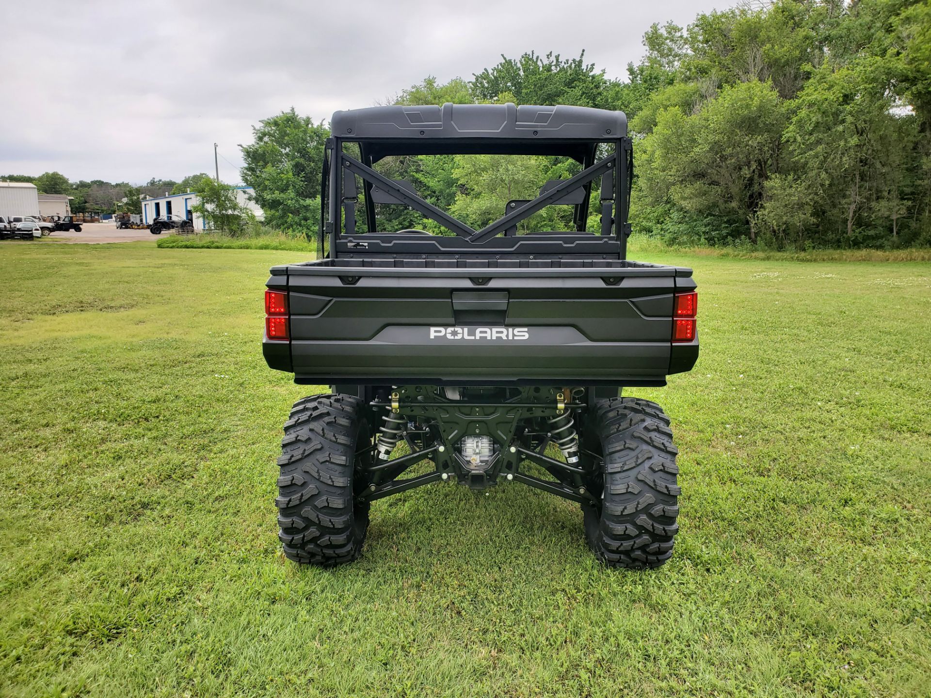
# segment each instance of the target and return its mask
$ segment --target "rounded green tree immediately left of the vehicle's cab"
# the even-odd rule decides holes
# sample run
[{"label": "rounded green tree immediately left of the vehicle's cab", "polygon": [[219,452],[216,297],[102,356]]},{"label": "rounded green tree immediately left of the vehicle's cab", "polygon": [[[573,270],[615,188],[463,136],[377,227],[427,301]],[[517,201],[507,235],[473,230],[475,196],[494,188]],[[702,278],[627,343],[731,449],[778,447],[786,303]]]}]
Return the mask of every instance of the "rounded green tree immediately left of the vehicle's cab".
[{"label": "rounded green tree immediately left of the vehicle's cab", "polygon": [[240,145],[243,181],[255,190],[265,222],[311,235],[320,218],[320,170],[330,129],[291,108],[252,128],[254,141]]}]

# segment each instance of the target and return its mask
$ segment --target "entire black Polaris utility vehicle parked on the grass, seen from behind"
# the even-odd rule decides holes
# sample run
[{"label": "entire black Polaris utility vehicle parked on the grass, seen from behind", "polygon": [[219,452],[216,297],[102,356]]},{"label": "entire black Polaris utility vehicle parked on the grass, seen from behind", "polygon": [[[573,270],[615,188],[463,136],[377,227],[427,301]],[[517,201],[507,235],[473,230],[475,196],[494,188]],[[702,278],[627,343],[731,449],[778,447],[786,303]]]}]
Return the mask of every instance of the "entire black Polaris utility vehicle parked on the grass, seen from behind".
[{"label": "entire black Polaris utility vehicle parked on the grass, seen from behind", "polygon": [[[503,201],[501,217],[476,229],[376,167],[450,154],[543,156],[575,174]],[[697,299],[691,269],[627,260],[625,114],[514,104],[337,112],[323,162],[320,259],[273,267],[265,291],[268,365],[331,390],[298,400],[284,425],[285,555],[354,560],[372,502],[444,481],[556,494],[581,504],[603,562],[666,562],[680,493],[669,419],[621,391],[692,369]],[[385,230],[380,218],[398,207],[433,233]],[[526,230],[546,207],[571,207],[560,209],[570,232]]]}]

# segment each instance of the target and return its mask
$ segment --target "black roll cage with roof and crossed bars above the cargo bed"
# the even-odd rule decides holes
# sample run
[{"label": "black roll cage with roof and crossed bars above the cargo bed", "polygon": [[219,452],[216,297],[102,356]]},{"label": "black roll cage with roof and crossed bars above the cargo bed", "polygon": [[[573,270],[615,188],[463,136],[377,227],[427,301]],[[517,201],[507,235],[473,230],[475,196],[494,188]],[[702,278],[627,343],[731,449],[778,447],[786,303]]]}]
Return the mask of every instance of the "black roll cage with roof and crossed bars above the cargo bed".
[{"label": "black roll cage with roof and crossed bars above the cargo bed", "polygon": [[[627,258],[633,153],[622,112],[511,103],[395,105],[337,112],[331,134],[321,172],[317,248],[323,257]],[[346,143],[357,145],[358,158],[345,152]],[[389,155],[420,154],[558,155],[572,158],[582,171],[568,180],[546,182],[531,200],[508,202],[505,215],[475,230],[417,195],[409,182],[389,179],[374,169]],[[365,232],[357,230],[357,176],[364,194]],[[600,230],[595,234],[586,226],[592,186],[598,178]],[[376,203],[406,205],[454,236],[379,231]],[[573,206],[572,232],[517,235],[520,221],[553,204]],[[326,237],[329,252],[324,247]]]}]

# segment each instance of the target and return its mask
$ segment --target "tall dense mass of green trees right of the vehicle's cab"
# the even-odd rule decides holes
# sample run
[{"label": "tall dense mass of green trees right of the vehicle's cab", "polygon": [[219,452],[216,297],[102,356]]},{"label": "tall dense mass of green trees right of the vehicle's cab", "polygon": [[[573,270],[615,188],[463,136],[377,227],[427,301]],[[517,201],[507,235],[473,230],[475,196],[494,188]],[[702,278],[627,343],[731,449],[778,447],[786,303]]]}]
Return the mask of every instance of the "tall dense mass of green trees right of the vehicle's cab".
[{"label": "tall dense mass of green trees right of the vehicle's cab", "polygon": [[614,87],[643,136],[635,228],[777,246],[931,240],[926,1],[776,0],[657,30]]}]

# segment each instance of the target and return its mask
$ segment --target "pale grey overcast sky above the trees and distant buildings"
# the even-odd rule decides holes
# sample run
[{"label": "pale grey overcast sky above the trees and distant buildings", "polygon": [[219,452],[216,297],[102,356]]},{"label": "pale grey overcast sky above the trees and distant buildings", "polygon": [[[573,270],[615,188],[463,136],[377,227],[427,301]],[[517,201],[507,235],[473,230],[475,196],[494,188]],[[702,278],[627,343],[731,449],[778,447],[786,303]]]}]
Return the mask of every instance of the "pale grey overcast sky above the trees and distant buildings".
[{"label": "pale grey overcast sky above the trees and distant buildings", "polygon": [[[447,5],[449,8],[447,8]],[[238,182],[239,143],[293,106],[315,121],[420,82],[470,79],[536,50],[611,77],[654,21],[685,25],[729,0],[0,0],[0,175]],[[15,47],[15,50],[10,50]]]}]

